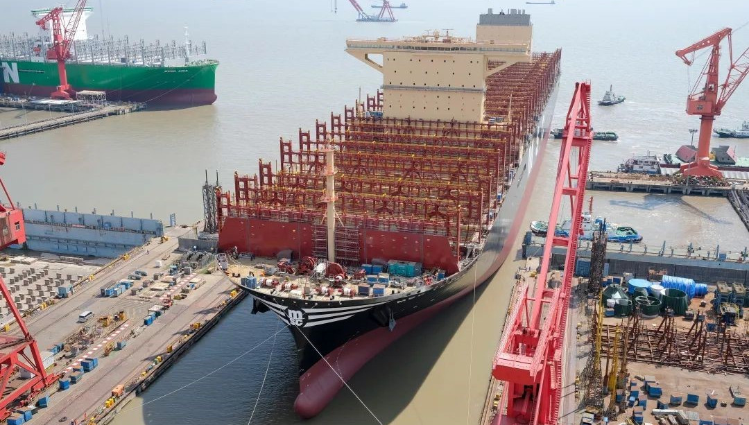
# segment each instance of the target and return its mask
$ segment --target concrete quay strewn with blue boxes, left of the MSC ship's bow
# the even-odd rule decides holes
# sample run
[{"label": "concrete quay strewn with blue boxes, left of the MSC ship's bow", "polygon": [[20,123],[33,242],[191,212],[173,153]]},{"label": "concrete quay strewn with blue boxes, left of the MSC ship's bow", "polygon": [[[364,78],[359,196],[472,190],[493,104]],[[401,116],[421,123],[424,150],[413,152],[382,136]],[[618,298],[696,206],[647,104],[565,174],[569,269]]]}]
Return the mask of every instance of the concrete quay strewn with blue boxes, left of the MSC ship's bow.
[{"label": "concrete quay strewn with blue boxes, left of the MSC ship's bow", "polygon": [[[49,350],[43,358],[54,356],[48,372],[63,374],[37,397],[31,424],[111,420],[243,299],[246,294],[216,272],[212,255],[175,251],[179,236],[193,231],[170,227],[164,239],[151,239],[94,272],[92,279],[75,281],[77,275],[71,275],[71,293],[27,317],[40,349]],[[134,278],[136,271],[140,279]],[[122,280],[132,287],[103,296]],[[165,307],[166,299],[171,306]],[[79,322],[83,311],[94,317]],[[20,334],[15,325],[8,332]],[[20,379],[15,376],[9,387]]]}]

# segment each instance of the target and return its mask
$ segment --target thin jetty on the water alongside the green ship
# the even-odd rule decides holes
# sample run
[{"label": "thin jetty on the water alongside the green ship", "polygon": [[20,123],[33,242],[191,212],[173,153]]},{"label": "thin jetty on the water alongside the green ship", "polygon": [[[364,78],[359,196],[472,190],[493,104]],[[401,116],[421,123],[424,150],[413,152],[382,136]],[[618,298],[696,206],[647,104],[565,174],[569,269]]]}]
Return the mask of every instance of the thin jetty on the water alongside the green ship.
[{"label": "thin jetty on the water alongside the green ship", "polygon": [[[31,105],[26,105],[20,101],[7,99],[0,100],[0,107],[4,108],[28,108],[33,109]],[[38,120],[31,123],[22,123],[16,126],[10,126],[0,129],[0,140],[16,138],[22,135],[43,132],[50,129],[57,129],[64,126],[72,126],[77,123],[85,123],[99,118],[109,117],[110,115],[128,114],[134,111],[140,111],[145,108],[145,103],[124,103],[121,105],[108,105],[96,108],[87,108],[85,111],[76,111],[62,117],[52,117],[46,120]],[[43,108],[46,110],[46,108]],[[55,110],[55,109],[52,109]]]}]

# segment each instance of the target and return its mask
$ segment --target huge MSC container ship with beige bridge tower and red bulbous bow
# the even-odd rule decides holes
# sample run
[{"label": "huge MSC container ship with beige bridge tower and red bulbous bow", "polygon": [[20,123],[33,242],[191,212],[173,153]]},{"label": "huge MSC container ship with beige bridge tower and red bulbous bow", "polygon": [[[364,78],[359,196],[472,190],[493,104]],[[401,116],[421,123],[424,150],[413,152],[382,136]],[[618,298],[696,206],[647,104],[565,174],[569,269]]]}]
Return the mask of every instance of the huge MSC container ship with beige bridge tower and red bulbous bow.
[{"label": "huge MSC container ship with beige bridge tower and red bulbous bow", "polygon": [[260,160],[259,174],[234,174],[233,193],[217,190],[222,267],[243,270],[253,313],[294,334],[298,415],[321,412],[342,380],[510,253],[560,74],[561,52],[531,52],[532,31],[524,11],[490,9],[475,41],[347,40],[382,90],[300,129],[297,147],[282,138],[278,169]]}]

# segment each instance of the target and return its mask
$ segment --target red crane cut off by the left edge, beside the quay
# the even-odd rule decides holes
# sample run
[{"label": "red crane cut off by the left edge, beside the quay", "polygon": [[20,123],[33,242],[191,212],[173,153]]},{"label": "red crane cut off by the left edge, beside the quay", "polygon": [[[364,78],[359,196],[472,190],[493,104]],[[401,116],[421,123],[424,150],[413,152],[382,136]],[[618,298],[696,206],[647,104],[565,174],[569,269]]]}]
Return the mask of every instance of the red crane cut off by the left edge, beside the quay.
[{"label": "red crane cut off by the left edge, beside the quay", "polygon": [[[5,153],[0,152],[0,165],[4,163]],[[13,201],[1,179],[0,187],[7,198],[7,205],[0,204],[0,248],[7,248],[8,245],[25,242],[26,233],[23,227],[23,212],[13,207]],[[10,416],[11,404],[25,404],[32,400],[44,388],[54,384],[59,375],[48,374],[44,370],[37,342],[28,331],[16,303],[13,302],[13,296],[1,277],[0,293],[22,333],[20,337],[7,333],[0,335],[0,421],[4,421]],[[20,380],[19,385],[9,387],[8,384],[21,369],[31,373],[33,377]]]}]

